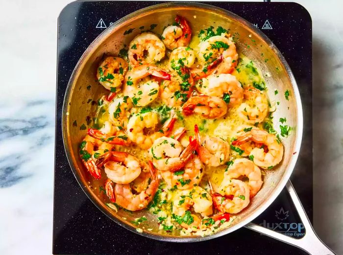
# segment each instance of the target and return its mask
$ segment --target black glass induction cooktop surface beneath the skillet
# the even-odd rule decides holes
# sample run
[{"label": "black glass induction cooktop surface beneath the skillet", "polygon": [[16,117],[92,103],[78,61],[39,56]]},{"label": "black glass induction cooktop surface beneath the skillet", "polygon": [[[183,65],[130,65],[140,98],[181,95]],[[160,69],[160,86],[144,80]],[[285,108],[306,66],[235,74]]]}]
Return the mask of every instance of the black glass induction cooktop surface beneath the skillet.
[{"label": "black glass induction cooktop surface beneath the skillet", "polygon": [[[198,243],[148,239],[120,227],[84,194],[73,176],[62,139],[62,104],[71,73],[85,49],[106,27],[138,9],[161,2],[76,1],[58,19],[57,97],[53,254],[230,254],[301,255],[305,252],[242,228]],[[312,21],[296,3],[207,2],[229,10],[261,29],[279,48],[293,70],[303,104],[304,133],[292,182],[312,220]],[[286,190],[253,221],[298,238],[304,233]]]}]

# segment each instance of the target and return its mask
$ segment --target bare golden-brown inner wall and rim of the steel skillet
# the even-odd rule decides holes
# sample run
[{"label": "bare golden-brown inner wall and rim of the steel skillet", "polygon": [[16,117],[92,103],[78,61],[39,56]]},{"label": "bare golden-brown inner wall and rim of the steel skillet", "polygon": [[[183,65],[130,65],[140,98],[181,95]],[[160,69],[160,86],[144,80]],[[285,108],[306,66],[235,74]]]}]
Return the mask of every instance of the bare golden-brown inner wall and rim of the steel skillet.
[{"label": "bare golden-brown inner wall and rim of the steel skillet", "polygon": [[[288,125],[293,128],[288,138],[281,138],[285,147],[282,162],[273,170],[267,171],[264,184],[251,200],[250,205],[239,214],[230,227],[205,237],[181,236],[177,232],[168,234],[159,231],[156,215],[150,215],[146,210],[137,212],[119,210],[115,213],[106,206],[108,199],[105,195],[99,192],[99,186],[104,184],[105,174],[102,174],[101,180],[95,180],[87,172],[78,156],[78,146],[86,135],[86,130],[80,130],[79,126],[86,122],[86,116],[94,116],[97,107],[87,102],[89,99],[97,100],[101,95],[108,93],[98,85],[96,80],[96,70],[103,55],[118,55],[123,45],[128,45],[139,33],[140,26],[149,27],[150,24],[156,23],[158,26],[154,32],[161,34],[163,28],[173,22],[176,14],[184,16],[190,22],[193,31],[199,31],[210,25],[221,25],[229,28],[231,34],[239,35],[238,51],[252,59],[262,71],[267,82],[270,100],[280,101],[274,113],[274,128],[279,130],[277,120],[280,117],[286,117]],[[123,33],[128,28],[135,29],[131,34],[124,36]],[[267,63],[264,61],[266,58],[269,59]],[[89,85],[92,85],[90,90],[87,89]],[[274,95],[275,89],[279,91],[277,95]],[[286,101],[284,97],[286,90],[291,93],[289,101]],[[79,124],[78,127],[73,126],[75,120]],[[132,221],[146,215],[148,221],[145,222],[143,232],[139,234],[173,242],[196,242],[215,238],[243,227],[262,213],[270,206],[289,179],[298,155],[294,152],[299,151],[302,135],[300,95],[292,71],[279,50],[262,32],[241,17],[217,7],[194,2],[172,2],[150,6],[125,16],[103,31],[86,49],[73,70],[64,99],[62,121],[65,150],[75,178],[98,209],[133,232],[136,232],[137,226]]]}]

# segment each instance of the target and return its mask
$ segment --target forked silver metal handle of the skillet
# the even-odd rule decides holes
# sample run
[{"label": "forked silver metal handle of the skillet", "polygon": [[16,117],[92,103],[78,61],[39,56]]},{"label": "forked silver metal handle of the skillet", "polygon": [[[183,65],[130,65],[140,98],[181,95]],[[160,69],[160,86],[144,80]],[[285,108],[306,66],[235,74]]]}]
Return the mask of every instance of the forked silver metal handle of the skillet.
[{"label": "forked silver metal handle of the skillet", "polygon": [[281,234],[279,232],[274,232],[270,229],[264,228],[260,225],[254,223],[248,223],[245,225],[245,228],[251,229],[256,232],[268,235],[272,238],[275,238],[279,241],[291,244],[295,247],[298,247],[308,254],[311,255],[336,255],[330,248],[328,248],[318,237],[314,231],[311,222],[309,221],[304,208],[301,205],[301,202],[296,195],[294,187],[291,181],[288,181],[286,184],[287,190],[290,193],[294,206],[299,214],[299,217],[305,227],[305,235],[301,239],[295,239],[291,236]]}]

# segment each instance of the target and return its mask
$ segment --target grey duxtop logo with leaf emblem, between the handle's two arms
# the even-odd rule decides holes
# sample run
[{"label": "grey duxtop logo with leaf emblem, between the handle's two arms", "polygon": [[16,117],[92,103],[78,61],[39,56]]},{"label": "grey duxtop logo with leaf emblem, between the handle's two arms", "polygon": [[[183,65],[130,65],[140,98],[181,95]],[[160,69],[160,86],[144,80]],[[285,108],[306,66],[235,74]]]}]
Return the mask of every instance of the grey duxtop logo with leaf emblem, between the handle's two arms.
[{"label": "grey duxtop logo with leaf emblem, between the handle's two arms", "polygon": [[280,232],[288,236],[303,236],[305,235],[305,227],[301,222],[286,222],[286,219],[290,216],[289,211],[281,207],[279,210],[275,210],[275,221],[263,220],[260,226],[270,229],[272,231]]}]

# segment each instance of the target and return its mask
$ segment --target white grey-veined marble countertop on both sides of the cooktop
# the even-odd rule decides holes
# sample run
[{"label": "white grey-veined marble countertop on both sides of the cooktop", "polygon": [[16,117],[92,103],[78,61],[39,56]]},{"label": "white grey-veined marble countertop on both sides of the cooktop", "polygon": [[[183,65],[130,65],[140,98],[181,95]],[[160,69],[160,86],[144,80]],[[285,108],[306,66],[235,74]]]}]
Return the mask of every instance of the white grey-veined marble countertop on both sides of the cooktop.
[{"label": "white grey-veined marble countertop on both sides of the cooktop", "polygon": [[[69,0],[0,0],[0,254],[51,254],[57,17]],[[313,19],[314,227],[343,254],[343,2]]]}]

